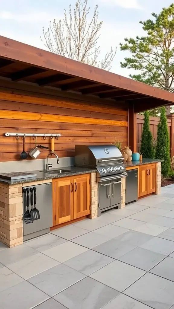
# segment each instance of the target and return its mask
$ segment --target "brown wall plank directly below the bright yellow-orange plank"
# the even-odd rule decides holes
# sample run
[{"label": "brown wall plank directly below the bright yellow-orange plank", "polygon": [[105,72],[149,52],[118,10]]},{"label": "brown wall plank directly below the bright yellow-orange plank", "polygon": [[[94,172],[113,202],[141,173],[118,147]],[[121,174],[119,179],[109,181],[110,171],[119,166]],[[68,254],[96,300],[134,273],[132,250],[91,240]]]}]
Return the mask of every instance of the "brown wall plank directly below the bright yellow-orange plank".
[{"label": "brown wall plank directly below the bright yellow-orange plank", "polygon": [[[60,130],[89,130],[95,131],[111,131],[111,132],[128,132],[128,127],[112,126],[112,125],[85,125],[73,123],[61,123],[61,122],[51,122],[51,121],[28,121],[28,120],[13,120],[13,119],[1,119],[0,126],[4,128],[3,133],[9,132],[21,132],[24,133],[61,133]],[[6,129],[9,128],[9,129]],[[38,131],[39,129],[39,131]],[[28,131],[27,131],[28,130]],[[22,132],[23,133],[23,132]],[[82,134],[83,135],[83,134]]]}]

